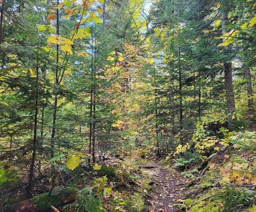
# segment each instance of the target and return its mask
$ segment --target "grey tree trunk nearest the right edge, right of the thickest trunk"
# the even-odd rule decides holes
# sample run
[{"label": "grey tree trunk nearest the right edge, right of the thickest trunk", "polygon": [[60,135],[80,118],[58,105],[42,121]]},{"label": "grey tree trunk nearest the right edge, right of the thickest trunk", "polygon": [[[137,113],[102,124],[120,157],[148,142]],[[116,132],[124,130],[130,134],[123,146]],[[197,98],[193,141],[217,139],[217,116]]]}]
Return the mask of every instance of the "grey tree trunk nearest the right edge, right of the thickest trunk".
[{"label": "grey tree trunk nearest the right edge, right of the thickest trunk", "polygon": [[248,115],[249,115],[249,125],[254,125],[254,105],[253,105],[253,90],[251,84],[251,72],[248,65],[245,66],[245,78],[246,78],[246,90],[248,98]]}]

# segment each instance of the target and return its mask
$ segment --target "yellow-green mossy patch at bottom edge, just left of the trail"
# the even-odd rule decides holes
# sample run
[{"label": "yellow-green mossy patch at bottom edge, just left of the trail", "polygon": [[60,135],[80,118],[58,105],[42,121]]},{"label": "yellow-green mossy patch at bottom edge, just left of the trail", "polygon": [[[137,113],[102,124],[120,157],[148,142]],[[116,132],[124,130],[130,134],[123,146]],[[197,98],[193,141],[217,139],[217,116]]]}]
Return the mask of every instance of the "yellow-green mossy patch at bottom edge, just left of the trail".
[{"label": "yellow-green mossy patch at bottom edge, just left of the trail", "polygon": [[144,199],[143,195],[140,193],[133,193],[131,195],[126,195],[124,197],[126,206],[129,212],[140,212],[144,209]]}]

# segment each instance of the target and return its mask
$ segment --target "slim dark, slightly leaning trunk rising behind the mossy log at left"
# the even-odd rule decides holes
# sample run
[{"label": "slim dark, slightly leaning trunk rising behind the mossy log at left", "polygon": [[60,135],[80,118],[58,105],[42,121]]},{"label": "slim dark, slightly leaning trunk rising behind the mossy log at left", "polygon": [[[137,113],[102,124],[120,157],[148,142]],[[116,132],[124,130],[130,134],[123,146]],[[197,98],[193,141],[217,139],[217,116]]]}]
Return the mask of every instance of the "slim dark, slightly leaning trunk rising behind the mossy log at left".
[{"label": "slim dark, slightly leaning trunk rising behind the mossy log at left", "polygon": [[29,170],[29,182],[28,189],[32,191],[33,189],[33,178],[34,178],[34,166],[35,166],[35,156],[36,156],[36,143],[37,143],[37,115],[38,115],[38,63],[36,64],[36,84],[35,84],[35,119],[34,119],[34,137],[33,137],[33,153]]}]

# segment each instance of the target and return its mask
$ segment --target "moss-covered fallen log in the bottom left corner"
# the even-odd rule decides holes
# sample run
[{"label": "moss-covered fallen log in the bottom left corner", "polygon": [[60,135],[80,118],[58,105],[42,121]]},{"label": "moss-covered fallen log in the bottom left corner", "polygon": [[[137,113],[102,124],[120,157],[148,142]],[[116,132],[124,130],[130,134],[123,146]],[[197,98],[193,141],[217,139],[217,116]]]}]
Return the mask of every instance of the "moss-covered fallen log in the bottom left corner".
[{"label": "moss-covered fallen log in the bottom left corner", "polygon": [[36,195],[31,199],[24,200],[12,205],[6,205],[4,212],[50,212],[52,206],[61,207],[73,203],[76,200],[76,190],[73,187],[54,190],[49,193]]}]

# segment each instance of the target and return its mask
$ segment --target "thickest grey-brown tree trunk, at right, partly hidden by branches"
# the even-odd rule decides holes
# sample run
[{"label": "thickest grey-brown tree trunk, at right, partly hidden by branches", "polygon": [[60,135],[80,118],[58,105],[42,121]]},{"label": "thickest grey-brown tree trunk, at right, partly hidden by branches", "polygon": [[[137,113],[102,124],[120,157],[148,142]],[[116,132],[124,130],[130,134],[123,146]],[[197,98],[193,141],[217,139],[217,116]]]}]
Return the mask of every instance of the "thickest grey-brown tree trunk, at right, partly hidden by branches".
[{"label": "thickest grey-brown tree trunk, at right, partly hidden by branches", "polygon": [[[226,26],[228,25],[227,19],[227,5],[224,0],[221,1],[221,26],[222,26],[222,35],[227,33]],[[224,38],[223,38],[224,40]],[[234,91],[233,91],[233,82],[232,82],[232,63],[224,62],[224,79],[225,79],[225,88],[226,88],[226,101],[227,101],[227,113],[231,114],[236,110],[234,104]],[[229,115],[229,121],[230,119]]]}]

